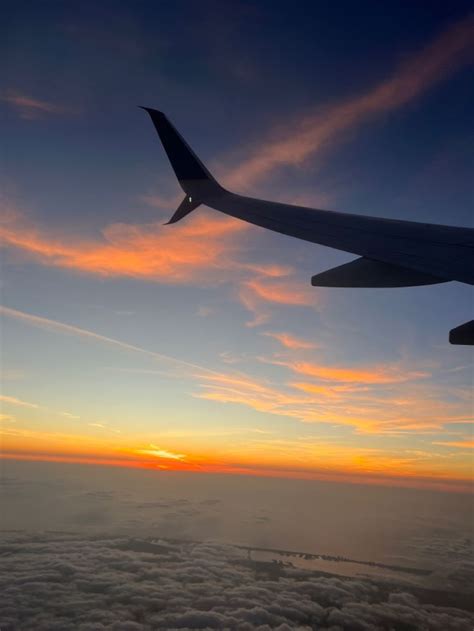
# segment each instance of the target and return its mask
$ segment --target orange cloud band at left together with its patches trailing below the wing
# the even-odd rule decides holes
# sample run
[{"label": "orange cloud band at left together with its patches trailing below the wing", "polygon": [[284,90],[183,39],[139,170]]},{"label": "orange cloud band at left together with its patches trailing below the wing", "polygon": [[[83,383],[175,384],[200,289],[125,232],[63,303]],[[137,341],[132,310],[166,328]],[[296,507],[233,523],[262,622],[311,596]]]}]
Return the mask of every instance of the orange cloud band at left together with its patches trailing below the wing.
[{"label": "orange cloud band at left together with its patches trailing below the wing", "polygon": [[112,224],[101,238],[79,241],[39,230],[9,207],[3,216],[0,243],[43,265],[166,284],[233,282],[240,302],[254,313],[254,325],[270,318],[269,304],[315,302],[316,292],[309,283],[286,278],[292,268],[244,259],[250,248],[248,239],[243,239],[248,225],[232,218],[201,211],[192,221],[172,228],[157,222]]}]

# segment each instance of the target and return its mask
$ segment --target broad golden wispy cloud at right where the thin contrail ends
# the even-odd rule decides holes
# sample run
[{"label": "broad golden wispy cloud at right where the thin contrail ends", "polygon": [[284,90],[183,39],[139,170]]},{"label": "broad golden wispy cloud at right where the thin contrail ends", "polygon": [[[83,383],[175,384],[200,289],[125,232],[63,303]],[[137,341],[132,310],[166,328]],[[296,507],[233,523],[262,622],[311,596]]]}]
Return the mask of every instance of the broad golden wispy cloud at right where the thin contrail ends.
[{"label": "broad golden wispy cloud at right where the thin contrail ends", "polygon": [[[388,370],[388,368],[387,368]],[[347,426],[359,434],[400,436],[442,432],[446,423],[463,417],[463,402],[445,401],[431,384],[400,390],[399,384],[270,383],[225,375],[201,380],[194,396],[234,403],[258,412],[304,423]]]}]

